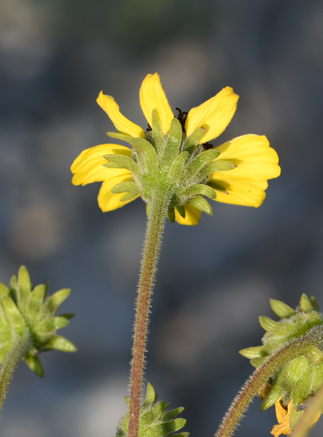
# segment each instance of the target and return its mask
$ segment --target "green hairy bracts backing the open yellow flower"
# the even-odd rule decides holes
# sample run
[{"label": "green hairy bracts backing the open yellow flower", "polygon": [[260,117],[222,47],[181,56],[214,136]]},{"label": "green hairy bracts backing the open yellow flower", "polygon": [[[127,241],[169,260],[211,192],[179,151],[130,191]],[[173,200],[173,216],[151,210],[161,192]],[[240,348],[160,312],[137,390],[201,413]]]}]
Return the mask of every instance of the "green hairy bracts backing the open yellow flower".
[{"label": "green hairy bracts backing the open yellow flower", "polygon": [[[215,187],[208,183],[208,179],[216,171],[232,170],[237,165],[231,161],[216,160],[219,150],[204,149],[200,141],[206,134],[206,128],[196,128],[186,137],[179,119],[174,117],[169,132],[164,136],[155,109],[151,120],[151,128],[145,133],[145,138],[107,132],[110,137],[127,141],[133,147],[131,154],[125,150],[125,154],[104,156],[108,161],[104,166],[124,168],[133,175],[133,181],[121,182],[111,192],[124,193],[120,201],[130,201],[140,195],[147,203],[149,215],[149,205],[158,190],[156,187],[160,187],[168,194],[168,218],[171,222],[175,221],[175,209],[185,218],[186,204],[212,215],[210,204],[202,197],[216,198]],[[216,189],[226,191],[218,184]]]}]

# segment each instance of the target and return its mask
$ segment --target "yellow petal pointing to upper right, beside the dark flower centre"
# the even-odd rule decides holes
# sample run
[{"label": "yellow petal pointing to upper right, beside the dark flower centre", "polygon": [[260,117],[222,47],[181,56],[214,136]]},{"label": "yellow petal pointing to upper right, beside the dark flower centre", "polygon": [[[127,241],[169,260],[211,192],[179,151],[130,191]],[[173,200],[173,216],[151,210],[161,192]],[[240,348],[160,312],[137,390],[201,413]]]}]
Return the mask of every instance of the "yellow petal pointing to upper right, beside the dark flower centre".
[{"label": "yellow petal pointing to upper right, beside the dark flower centre", "polygon": [[186,135],[189,136],[196,128],[203,126],[207,132],[201,143],[218,137],[234,116],[238,98],[231,87],[225,87],[216,96],[192,108],[186,118]]}]

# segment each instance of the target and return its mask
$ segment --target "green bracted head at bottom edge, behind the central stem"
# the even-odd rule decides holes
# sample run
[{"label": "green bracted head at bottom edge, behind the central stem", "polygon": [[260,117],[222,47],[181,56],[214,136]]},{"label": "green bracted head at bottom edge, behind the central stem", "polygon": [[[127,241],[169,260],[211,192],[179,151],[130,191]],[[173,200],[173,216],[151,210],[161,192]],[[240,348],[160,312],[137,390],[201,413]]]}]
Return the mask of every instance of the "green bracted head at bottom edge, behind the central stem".
[{"label": "green bracted head at bottom edge, behind the central stem", "polygon": [[[185,419],[173,419],[179,413],[182,413],[183,407],[165,411],[170,403],[165,405],[164,401],[156,400],[158,395],[155,393],[153,386],[148,382],[147,395],[141,404],[139,416],[138,437],[170,437],[175,431],[180,430],[186,423]],[[129,406],[130,398],[124,398]],[[129,423],[129,411],[120,420],[116,437],[127,437]],[[178,433],[176,437],[187,437],[189,433]]]}]

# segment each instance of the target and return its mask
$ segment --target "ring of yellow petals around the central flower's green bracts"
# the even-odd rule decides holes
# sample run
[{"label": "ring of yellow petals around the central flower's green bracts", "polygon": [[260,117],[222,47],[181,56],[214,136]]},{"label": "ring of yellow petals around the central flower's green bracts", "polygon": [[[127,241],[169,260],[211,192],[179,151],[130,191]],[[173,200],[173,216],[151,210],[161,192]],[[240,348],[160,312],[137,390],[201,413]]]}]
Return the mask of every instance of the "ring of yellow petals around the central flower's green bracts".
[{"label": "ring of yellow petals around the central flower's green bracts", "polygon": [[[139,97],[142,111],[149,126],[154,125],[152,118],[154,113],[157,113],[161,135],[165,138],[166,144],[174,114],[168,104],[158,73],[148,74],[145,77],[141,84]],[[216,96],[198,107],[192,108],[186,119],[185,117],[181,118],[183,130],[181,148],[185,139],[195,138],[196,132],[201,128],[203,129],[199,130],[202,135],[199,135],[198,138],[197,152],[191,153],[189,151],[188,160],[192,161],[197,154],[210,148],[208,141],[219,136],[230,123],[237,107],[237,101],[238,96],[234,94],[233,89],[225,87]],[[144,132],[140,126],[124,117],[113,97],[104,95],[101,91],[97,103],[107,112],[114,126],[120,132],[119,134],[109,132],[110,136],[128,142],[136,138],[141,139],[141,141],[144,141],[144,139],[149,141],[149,129],[148,132]],[[205,132],[204,135],[203,132]],[[133,143],[131,144],[134,146]],[[154,147],[157,148],[157,146]],[[186,150],[189,150],[189,148]],[[175,208],[175,219],[180,224],[196,225],[199,222],[201,211],[212,214],[210,205],[207,206],[208,204],[204,198],[201,200],[201,194],[224,203],[258,207],[265,199],[265,189],[268,187],[267,180],[278,177],[280,174],[277,153],[269,147],[269,142],[265,136],[244,135],[224,143],[215,150],[220,152],[220,155],[215,159],[211,158],[209,163],[218,162],[219,170],[206,175],[204,180],[200,178],[199,181],[195,182],[195,184],[204,184],[203,187],[205,187],[205,184],[212,187],[214,195],[211,197],[211,195],[204,194],[204,192],[188,194],[192,191],[186,191],[186,194],[182,194],[182,198],[179,198],[174,194],[175,200],[179,203],[176,204],[174,200],[175,204],[172,208],[173,213]],[[179,149],[180,152],[182,152],[182,149]],[[140,187],[137,189],[134,184],[122,185],[122,183],[132,182],[140,186],[133,169],[120,168],[121,164],[119,167],[117,167],[117,164],[109,163],[107,165],[107,162],[109,162],[108,157],[104,158],[103,156],[109,155],[112,159],[113,154],[134,157],[132,149],[118,144],[101,144],[86,149],[72,164],[71,170],[74,173],[72,183],[74,185],[85,185],[92,182],[103,182],[98,196],[99,206],[103,212],[120,208],[140,195],[148,202],[149,196],[145,195],[144,190],[141,190]],[[160,160],[162,159],[161,155],[162,153],[158,154]],[[227,164],[226,166],[228,162],[230,165]],[[134,164],[137,165],[137,163]],[[118,191],[115,188],[117,184],[121,184],[118,185],[120,187],[119,192],[116,192]],[[120,192],[121,187],[128,187],[127,190],[129,191],[126,195],[124,192]],[[192,201],[194,196],[195,198],[198,196],[195,203]],[[194,206],[189,203],[190,201],[192,201],[192,204],[194,203]],[[183,208],[185,208],[185,212]]]}]

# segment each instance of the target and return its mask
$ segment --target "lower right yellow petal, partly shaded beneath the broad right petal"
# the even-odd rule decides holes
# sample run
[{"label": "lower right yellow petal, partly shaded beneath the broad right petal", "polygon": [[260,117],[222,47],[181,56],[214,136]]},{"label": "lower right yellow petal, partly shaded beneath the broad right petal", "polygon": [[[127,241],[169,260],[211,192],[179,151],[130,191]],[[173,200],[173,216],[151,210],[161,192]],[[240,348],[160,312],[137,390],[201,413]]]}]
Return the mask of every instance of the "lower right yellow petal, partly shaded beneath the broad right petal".
[{"label": "lower right yellow petal, partly shaded beneath the broad right petal", "polygon": [[[233,170],[230,170],[230,172]],[[254,206],[258,208],[264,201],[265,189],[268,187],[267,180],[254,182],[253,180],[238,179],[231,177],[229,171],[212,173],[210,180],[221,185],[229,194],[216,191],[216,201],[233,205]],[[227,173],[225,175],[219,173]]]}]

